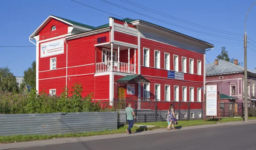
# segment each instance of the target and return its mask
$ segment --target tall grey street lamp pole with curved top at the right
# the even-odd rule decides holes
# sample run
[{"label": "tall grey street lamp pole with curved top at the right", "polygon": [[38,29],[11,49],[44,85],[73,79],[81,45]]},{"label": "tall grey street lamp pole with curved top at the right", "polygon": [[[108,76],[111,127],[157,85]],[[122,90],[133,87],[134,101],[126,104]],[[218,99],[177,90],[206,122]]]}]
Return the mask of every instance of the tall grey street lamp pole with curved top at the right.
[{"label": "tall grey street lamp pole with curved top at the right", "polygon": [[[253,5],[256,2],[253,3]],[[253,7],[250,6],[250,9]],[[250,11],[250,9],[248,10],[248,12]],[[248,88],[247,88],[247,35],[246,35],[246,19],[247,19],[247,15],[248,12],[246,14],[245,17],[245,21],[244,21],[244,121],[247,122],[248,121],[248,102],[247,102],[247,97],[248,97]]]}]

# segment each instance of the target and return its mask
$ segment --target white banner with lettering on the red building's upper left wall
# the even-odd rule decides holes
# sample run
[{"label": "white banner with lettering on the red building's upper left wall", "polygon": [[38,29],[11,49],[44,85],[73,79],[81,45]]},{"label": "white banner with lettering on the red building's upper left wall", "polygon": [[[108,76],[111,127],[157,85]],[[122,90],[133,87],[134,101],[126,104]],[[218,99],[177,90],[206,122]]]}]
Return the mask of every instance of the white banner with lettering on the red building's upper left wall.
[{"label": "white banner with lettering on the red building's upper left wall", "polygon": [[64,39],[53,40],[42,43],[40,47],[40,58],[64,53]]}]

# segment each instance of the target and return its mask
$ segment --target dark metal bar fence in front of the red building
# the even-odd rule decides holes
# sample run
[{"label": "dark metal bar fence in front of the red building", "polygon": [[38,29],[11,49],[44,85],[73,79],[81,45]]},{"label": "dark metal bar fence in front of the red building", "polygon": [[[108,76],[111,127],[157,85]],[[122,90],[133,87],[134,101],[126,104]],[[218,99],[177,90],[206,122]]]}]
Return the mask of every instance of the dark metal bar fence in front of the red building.
[{"label": "dark metal bar fence in front of the red building", "polygon": [[126,123],[125,108],[131,103],[131,107],[137,116],[135,122],[146,123],[166,121],[168,108],[173,105],[175,116],[179,120],[203,119],[203,102],[182,102],[182,101],[151,101],[148,98],[114,98],[113,105],[118,112],[119,124]]}]

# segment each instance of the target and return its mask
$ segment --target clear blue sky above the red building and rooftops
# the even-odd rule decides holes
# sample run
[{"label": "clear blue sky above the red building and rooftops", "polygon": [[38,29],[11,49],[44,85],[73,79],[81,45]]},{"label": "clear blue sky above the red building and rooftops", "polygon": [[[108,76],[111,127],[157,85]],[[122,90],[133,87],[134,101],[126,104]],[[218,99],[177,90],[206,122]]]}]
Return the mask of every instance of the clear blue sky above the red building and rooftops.
[{"label": "clear blue sky above the red building and rooftops", "polygon": [[[220,54],[221,46],[226,46],[230,58],[236,58],[240,62],[244,62],[242,36],[244,34],[244,19],[247,10],[254,3],[254,0],[130,0],[131,2],[157,10],[163,14],[168,14],[170,16],[213,29],[226,31],[226,34],[223,34],[221,31],[218,31],[221,32],[218,33],[201,29],[158,14],[147,12],[128,3],[124,3],[121,0],[108,1],[127,7],[131,11],[112,6],[108,3],[102,2],[101,0],[77,1],[121,17],[145,20],[212,43],[215,48],[212,51],[208,51],[206,55],[209,62],[214,61],[216,56]],[[170,23],[175,23],[178,26],[184,26],[189,29],[206,32],[205,34],[208,35],[162,23],[157,20],[135,14],[132,12],[133,10]],[[29,42],[29,35],[31,35],[32,32],[34,32],[50,14],[91,26],[100,26],[108,23],[108,17],[113,16],[111,14],[106,14],[78,3],[74,3],[70,0],[4,0],[1,2],[0,6],[0,46],[34,46]],[[256,5],[253,6],[247,17],[247,35],[248,38],[251,39],[248,39],[250,42],[248,43],[248,46],[254,50],[256,50],[256,43],[253,43],[253,41],[256,42],[255,14]],[[238,33],[240,35],[234,36],[227,32]],[[224,39],[224,37],[217,38],[214,37],[215,35],[210,36],[212,34],[230,37],[230,39],[233,40]],[[249,47],[247,48],[248,69],[254,70],[256,67],[256,64],[254,63],[256,51],[253,51]],[[15,76],[23,76],[23,71],[31,66],[32,61],[35,61],[35,47],[0,47],[0,67],[9,66]]]}]

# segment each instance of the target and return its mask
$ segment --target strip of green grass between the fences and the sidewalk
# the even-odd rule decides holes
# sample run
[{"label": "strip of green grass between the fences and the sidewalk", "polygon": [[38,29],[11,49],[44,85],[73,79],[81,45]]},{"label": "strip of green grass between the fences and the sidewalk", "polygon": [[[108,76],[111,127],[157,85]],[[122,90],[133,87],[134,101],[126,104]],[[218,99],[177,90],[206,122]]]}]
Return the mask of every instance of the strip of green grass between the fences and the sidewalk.
[{"label": "strip of green grass between the fences and the sidewalk", "polygon": [[[248,119],[256,119],[256,117],[251,117]],[[230,122],[230,121],[243,121],[243,118],[221,118],[221,123]],[[204,122],[204,120],[190,120],[190,121],[178,121],[179,127],[188,127],[204,124],[216,124],[218,118],[210,119]],[[166,128],[167,122],[152,122],[152,123],[141,123],[138,125],[154,125],[152,128],[140,128],[134,126],[131,130],[132,132],[140,132],[145,130],[154,130],[159,128]],[[100,135],[110,135],[110,134],[119,134],[126,133],[127,125],[120,127],[117,130],[105,130],[99,132],[90,132],[90,133],[68,133],[68,134],[58,134],[58,135],[17,135],[17,136],[0,136],[0,143],[14,143],[14,142],[23,142],[23,141],[38,141],[38,140],[47,140],[52,138],[73,138],[73,137],[85,137],[85,136],[100,136]]]}]

